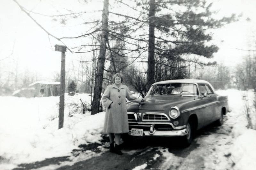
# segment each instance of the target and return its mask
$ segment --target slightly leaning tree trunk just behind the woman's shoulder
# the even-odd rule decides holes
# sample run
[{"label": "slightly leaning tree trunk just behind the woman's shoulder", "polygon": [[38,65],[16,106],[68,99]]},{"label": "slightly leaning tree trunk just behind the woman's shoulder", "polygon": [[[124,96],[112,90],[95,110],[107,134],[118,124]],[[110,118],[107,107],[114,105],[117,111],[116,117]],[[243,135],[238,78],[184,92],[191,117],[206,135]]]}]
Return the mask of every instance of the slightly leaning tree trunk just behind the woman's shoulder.
[{"label": "slightly leaning tree trunk just behind the woman's shoulder", "polygon": [[102,81],[104,73],[104,65],[106,59],[106,47],[108,38],[108,0],[104,0],[104,6],[102,11],[102,32],[100,37],[100,54],[97,63],[94,94],[92,101],[92,114],[99,113],[100,108],[100,96],[102,90]]}]

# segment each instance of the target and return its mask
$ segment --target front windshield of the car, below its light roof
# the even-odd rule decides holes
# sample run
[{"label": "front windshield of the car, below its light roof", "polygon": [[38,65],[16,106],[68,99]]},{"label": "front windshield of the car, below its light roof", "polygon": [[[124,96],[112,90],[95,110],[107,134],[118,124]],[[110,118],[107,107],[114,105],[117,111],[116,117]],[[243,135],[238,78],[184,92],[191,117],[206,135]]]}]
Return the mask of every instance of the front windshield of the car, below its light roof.
[{"label": "front windshield of the car, below its light roof", "polygon": [[169,83],[151,86],[146,96],[152,95],[199,95],[195,84]]}]

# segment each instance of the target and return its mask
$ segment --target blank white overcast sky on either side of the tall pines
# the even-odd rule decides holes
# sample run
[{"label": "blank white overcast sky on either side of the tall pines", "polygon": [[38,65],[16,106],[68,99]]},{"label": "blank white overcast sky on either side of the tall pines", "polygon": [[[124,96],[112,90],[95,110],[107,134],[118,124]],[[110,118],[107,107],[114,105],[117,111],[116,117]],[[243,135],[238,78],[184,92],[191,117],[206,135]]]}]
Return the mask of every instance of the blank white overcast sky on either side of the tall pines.
[{"label": "blank white overcast sky on either side of the tall pines", "polygon": [[[53,71],[60,70],[60,52],[53,51],[55,44],[60,42],[50,38],[48,35],[32,21],[28,15],[20,10],[16,3],[10,0],[0,0],[0,69],[8,69],[10,66],[27,69],[38,72],[44,77],[52,74]],[[102,0],[103,1],[103,0]],[[109,0],[111,3],[111,0]],[[230,16],[231,13],[243,13],[240,21],[227,25],[214,31],[213,42],[219,45],[220,50],[214,54],[214,59],[218,62],[224,62],[228,66],[234,66],[241,61],[241,58],[248,54],[248,51],[237,49],[255,50],[255,23],[256,23],[256,1],[255,0],[213,0],[214,9],[219,9],[220,16]],[[92,1],[95,4],[84,7],[78,0],[18,0],[18,2],[29,10],[44,14],[53,14],[60,8],[72,8],[77,12],[88,10],[101,10],[103,3]],[[100,3],[99,3],[100,2]],[[211,1],[209,1],[211,2]],[[85,9],[88,8],[88,9]],[[53,12],[53,13],[52,13]],[[101,15],[101,12],[95,15]],[[245,19],[250,18],[248,22]],[[59,27],[58,23],[44,21],[44,18],[38,18],[40,24],[46,28]],[[79,27],[79,25],[77,25]],[[63,28],[64,29],[64,28]],[[70,34],[79,34],[79,31],[73,28],[69,29]],[[56,33],[58,35],[58,33]],[[59,34],[61,36],[61,33]],[[71,36],[71,35],[68,35]],[[254,36],[254,37],[253,37]],[[13,49],[13,53],[12,53]],[[76,62],[79,56],[67,52],[67,69],[72,63]],[[90,58],[91,56],[87,56]],[[4,66],[3,64],[4,63]],[[45,69],[47,68],[47,69]]]}]

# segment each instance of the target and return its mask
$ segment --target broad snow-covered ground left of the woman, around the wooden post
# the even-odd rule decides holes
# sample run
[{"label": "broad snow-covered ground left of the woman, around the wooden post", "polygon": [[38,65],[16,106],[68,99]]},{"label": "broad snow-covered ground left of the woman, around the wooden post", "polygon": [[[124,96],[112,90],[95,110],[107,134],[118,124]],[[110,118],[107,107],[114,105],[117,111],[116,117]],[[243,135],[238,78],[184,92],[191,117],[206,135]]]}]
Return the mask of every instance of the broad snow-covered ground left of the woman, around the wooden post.
[{"label": "broad snow-covered ground left of the woman, around the wooden post", "polygon": [[0,169],[68,156],[80,144],[99,142],[105,113],[82,114],[80,98],[91,100],[87,94],[65,96],[64,127],[58,130],[59,97],[0,97]]}]

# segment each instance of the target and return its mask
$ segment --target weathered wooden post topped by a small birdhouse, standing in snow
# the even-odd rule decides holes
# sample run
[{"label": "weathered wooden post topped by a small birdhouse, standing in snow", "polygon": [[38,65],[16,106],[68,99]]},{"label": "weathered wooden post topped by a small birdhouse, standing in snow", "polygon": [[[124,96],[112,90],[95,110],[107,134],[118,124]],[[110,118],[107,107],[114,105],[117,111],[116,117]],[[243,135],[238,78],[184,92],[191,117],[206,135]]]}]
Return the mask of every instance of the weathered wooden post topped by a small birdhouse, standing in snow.
[{"label": "weathered wooden post topped by a small birdhouse, standing in snow", "polygon": [[65,99],[65,52],[66,46],[55,45],[55,51],[61,51],[60,67],[60,104],[59,104],[59,129],[63,128],[64,123],[64,99]]}]

